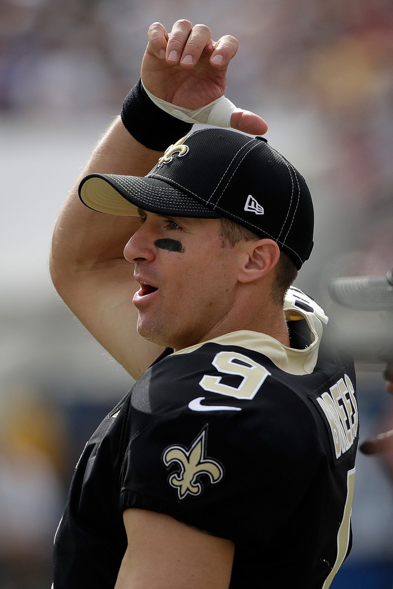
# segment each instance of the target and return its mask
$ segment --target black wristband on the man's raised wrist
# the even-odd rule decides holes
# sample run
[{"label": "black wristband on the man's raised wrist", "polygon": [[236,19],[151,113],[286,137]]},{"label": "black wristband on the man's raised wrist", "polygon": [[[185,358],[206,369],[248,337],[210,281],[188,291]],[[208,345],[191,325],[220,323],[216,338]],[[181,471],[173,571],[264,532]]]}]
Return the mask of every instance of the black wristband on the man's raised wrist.
[{"label": "black wristband on the man's raised wrist", "polygon": [[172,117],[150,100],[141,80],[128,92],[121,109],[121,120],[128,133],[145,147],[165,151],[193,126]]}]

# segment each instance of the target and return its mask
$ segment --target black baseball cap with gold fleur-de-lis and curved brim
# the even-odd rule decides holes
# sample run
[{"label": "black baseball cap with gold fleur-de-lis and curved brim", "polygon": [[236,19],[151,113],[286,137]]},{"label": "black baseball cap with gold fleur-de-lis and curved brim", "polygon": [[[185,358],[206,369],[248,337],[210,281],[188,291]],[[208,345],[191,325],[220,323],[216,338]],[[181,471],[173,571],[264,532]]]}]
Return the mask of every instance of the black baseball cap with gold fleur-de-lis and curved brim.
[{"label": "black baseball cap with gold fleur-de-lis and curved brim", "polygon": [[304,178],[263,137],[202,128],[170,145],[147,176],[89,174],[90,209],[138,216],[227,217],[276,241],[299,269],[313,247],[313,205]]}]

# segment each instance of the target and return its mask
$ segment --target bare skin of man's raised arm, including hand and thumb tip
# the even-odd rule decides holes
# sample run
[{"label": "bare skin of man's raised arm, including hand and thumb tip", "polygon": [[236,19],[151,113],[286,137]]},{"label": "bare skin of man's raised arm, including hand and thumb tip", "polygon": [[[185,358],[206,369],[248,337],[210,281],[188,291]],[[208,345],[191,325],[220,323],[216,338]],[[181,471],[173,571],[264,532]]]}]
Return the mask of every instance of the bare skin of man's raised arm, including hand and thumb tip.
[{"label": "bare skin of man's raised arm, including hand and thumb tip", "polygon": [[[168,34],[163,25],[154,23],[148,30],[141,78],[158,98],[197,109],[224,94],[227,67],[236,51],[235,38],[213,42],[205,25],[177,21]],[[127,116],[132,120],[132,104]],[[267,130],[260,117],[240,109],[233,112],[231,125],[252,134]],[[61,210],[50,256],[52,281],[62,299],[134,378],[161,351],[137,334],[132,298],[138,284],[133,265],[123,257],[140,221],[87,209],[78,198],[78,185],[94,172],[144,176],[160,155],[139,143],[118,117],[95,147]]]}]

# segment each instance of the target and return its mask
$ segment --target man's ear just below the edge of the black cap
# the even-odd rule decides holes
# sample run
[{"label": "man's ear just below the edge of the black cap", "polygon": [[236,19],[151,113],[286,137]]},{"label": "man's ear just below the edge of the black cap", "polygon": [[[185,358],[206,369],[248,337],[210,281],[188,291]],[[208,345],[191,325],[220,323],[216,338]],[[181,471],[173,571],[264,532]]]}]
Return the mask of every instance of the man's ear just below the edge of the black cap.
[{"label": "man's ear just below the edge of the black cap", "polygon": [[280,249],[276,242],[272,239],[260,239],[243,243],[246,247],[246,256],[238,269],[239,282],[255,282],[270,274],[280,257]]}]

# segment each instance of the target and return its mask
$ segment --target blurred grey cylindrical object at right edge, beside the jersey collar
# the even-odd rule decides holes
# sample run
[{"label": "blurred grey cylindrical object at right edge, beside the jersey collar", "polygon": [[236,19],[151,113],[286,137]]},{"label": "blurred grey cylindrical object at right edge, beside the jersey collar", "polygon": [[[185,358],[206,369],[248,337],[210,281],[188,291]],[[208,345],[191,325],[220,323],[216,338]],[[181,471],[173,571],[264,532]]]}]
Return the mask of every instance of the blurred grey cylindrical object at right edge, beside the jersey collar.
[{"label": "blurred grey cylindrical object at right edge, beside the jersey collar", "polygon": [[328,284],[335,303],[362,311],[393,310],[393,268],[386,276],[349,276]]}]

